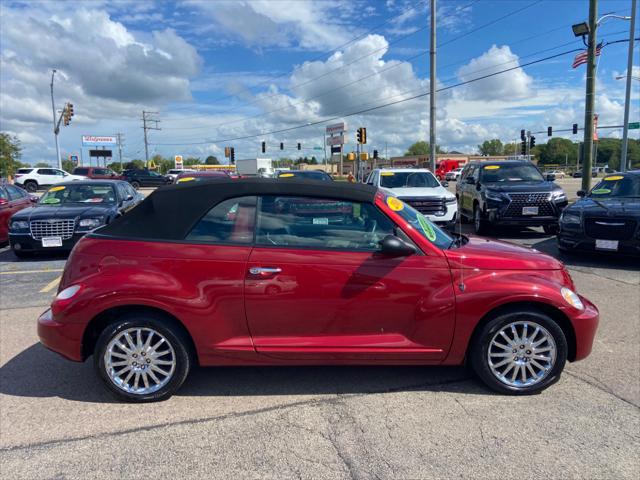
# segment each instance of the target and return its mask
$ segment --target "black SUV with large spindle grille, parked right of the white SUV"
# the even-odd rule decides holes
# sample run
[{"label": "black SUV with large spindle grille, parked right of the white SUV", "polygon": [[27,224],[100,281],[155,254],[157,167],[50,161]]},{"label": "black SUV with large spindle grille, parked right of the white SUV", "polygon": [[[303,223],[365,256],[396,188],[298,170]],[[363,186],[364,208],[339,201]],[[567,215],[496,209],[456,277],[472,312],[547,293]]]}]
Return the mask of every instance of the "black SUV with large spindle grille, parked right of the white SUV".
[{"label": "black SUV with large spindle grille, parked right of the white SUV", "polygon": [[552,234],[567,206],[567,196],[528,161],[471,162],[456,184],[458,208],[463,218],[473,219],[477,234],[487,225],[544,228]]}]

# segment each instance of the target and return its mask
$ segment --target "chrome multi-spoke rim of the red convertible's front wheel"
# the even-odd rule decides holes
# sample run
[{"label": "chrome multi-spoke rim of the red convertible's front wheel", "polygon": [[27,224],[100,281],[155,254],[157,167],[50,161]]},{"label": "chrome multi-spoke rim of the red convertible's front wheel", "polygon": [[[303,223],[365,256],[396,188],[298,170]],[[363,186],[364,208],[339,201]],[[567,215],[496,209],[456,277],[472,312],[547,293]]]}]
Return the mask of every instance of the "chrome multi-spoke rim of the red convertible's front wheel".
[{"label": "chrome multi-spoke rim of the red convertible's front wheel", "polygon": [[491,373],[515,388],[541,382],[556,362],[556,342],[543,326],[531,321],[513,322],[491,339],[487,352]]}]

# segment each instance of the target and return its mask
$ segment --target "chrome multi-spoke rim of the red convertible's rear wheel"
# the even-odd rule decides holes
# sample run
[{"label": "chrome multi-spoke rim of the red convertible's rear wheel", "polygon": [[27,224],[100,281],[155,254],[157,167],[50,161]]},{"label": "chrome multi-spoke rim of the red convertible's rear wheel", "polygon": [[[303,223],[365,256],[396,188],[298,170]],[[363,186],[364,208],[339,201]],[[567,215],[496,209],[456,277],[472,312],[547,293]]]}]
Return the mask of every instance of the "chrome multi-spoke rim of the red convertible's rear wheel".
[{"label": "chrome multi-spoke rim of the red convertible's rear wheel", "polygon": [[169,383],[176,369],[176,353],[156,330],[129,328],[114,336],[107,345],[104,368],[121,390],[148,395]]}]

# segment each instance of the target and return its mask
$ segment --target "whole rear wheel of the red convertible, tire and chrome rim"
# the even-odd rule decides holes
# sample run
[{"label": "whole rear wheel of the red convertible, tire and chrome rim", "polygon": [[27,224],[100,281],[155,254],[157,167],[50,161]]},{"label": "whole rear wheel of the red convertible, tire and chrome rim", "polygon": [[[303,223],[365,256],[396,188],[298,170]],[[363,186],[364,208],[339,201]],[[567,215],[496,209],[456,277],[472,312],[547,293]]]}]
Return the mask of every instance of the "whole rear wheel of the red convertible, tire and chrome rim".
[{"label": "whole rear wheel of the red convertible, tire and chrome rim", "polygon": [[122,400],[165,400],[187,378],[187,345],[185,335],[161,317],[125,315],[98,338],[94,367],[109,391]]}]

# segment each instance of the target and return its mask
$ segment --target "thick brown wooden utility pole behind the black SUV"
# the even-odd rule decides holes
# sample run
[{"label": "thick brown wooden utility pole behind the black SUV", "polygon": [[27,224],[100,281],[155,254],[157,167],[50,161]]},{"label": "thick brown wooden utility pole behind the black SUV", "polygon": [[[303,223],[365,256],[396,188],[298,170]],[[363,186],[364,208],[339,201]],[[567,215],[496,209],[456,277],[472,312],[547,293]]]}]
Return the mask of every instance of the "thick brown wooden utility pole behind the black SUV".
[{"label": "thick brown wooden utility pole behind the black SUV", "polygon": [[584,148],[582,159],[582,190],[591,188],[593,161],[593,114],[596,100],[596,30],[598,28],[598,0],[589,0],[589,35],[587,42],[587,88],[584,107]]}]

